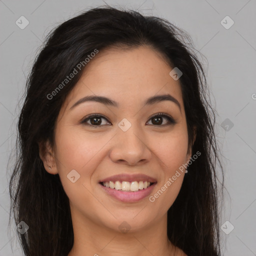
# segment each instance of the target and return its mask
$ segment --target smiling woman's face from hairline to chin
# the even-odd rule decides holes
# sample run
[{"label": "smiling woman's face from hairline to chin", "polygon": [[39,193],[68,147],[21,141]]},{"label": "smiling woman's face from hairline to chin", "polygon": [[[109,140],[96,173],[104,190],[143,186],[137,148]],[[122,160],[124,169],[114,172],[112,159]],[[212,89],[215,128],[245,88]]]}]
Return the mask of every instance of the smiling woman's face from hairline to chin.
[{"label": "smiling woman's face from hairline to chin", "polygon": [[[171,69],[160,53],[142,46],[99,51],[87,63],[55,124],[56,161],[48,158],[50,170],[45,164],[59,174],[72,217],[116,231],[126,221],[136,231],[166,216],[185,173],[177,170],[191,156]],[[148,100],[163,94],[169,97]]]}]

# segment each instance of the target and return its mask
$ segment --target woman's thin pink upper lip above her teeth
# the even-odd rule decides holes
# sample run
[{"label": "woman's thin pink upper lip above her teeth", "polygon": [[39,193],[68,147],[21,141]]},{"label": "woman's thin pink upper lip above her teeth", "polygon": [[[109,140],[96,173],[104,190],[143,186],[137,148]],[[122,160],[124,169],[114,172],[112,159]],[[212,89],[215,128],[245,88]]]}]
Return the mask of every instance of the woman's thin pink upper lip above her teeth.
[{"label": "woman's thin pink upper lip above her teeth", "polygon": [[106,181],[129,181],[129,182],[132,182],[132,181],[149,181],[149,182],[156,182],[156,179],[153,178],[153,177],[150,177],[148,175],[145,175],[145,174],[142,174],[142,173],[139,173],[139,174],[117,174],[117,175],[113,175],[113,176],[110,176],[110,177],[106,177],[106,178],[103,178],[101,180],[99,180],[98,182],[106,182]]}]

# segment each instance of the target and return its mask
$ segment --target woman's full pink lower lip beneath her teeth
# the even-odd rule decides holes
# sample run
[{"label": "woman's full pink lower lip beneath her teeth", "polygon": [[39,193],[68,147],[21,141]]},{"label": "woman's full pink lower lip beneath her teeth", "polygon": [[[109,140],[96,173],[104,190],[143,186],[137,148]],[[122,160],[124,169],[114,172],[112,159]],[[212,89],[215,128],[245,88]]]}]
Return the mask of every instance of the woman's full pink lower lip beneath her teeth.
[{"label": "woman's full pink lower lip beneath her teeth", "polygon": [[113,196],[114,198],[122,201],[122,202],[137,202],[139,200],[144,199],[148,196],[152,189],[154,188],[156,183],[148,186],[147,188],[138,190],[138,191],[123,191],[123,190],[116,190],[114,188],[106,187],[99,184],[104,191],[106,191],[109,195]]}]

